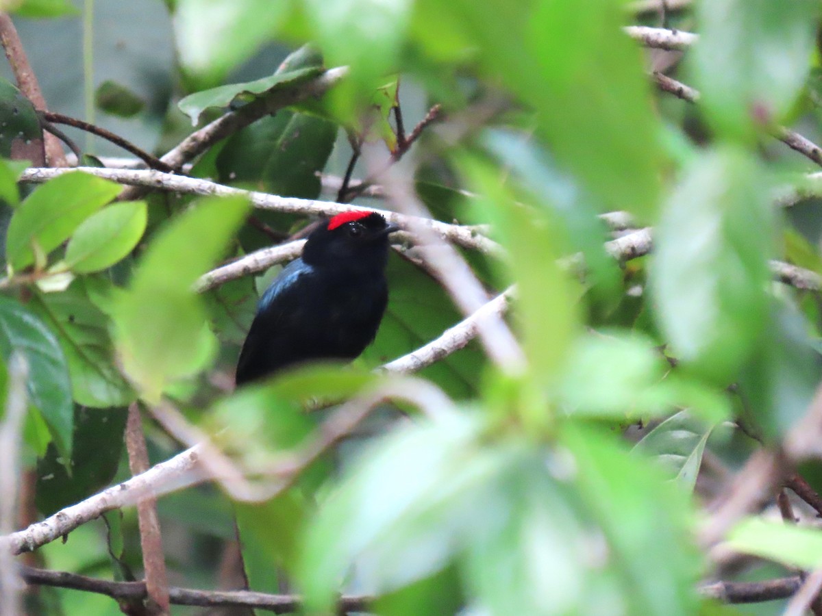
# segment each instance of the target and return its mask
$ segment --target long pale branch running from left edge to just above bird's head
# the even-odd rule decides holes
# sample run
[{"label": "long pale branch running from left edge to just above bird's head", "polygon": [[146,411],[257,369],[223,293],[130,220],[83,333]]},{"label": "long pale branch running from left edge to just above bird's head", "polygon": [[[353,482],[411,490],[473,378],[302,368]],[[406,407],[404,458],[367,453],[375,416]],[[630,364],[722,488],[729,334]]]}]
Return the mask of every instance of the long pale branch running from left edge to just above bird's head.
[{"label": "long pale branch running from left edge to just above bird's head", "polygon": [[145,186],[161,191],[178,192],[187,195],[242,196],[247,198],[256,208],[273,209],[287,214],[333,216],[340,212],[348,212],[352,209],[369,210],[382,214],[390,223],[399,224],[402,227],[407,227],[412,220],[416,220],[418,224],[431,229],[436,235],[443,239],[453,241],[455,244],[463,246],[464,248],[492,255],[501,254],[501,247],[495,241],[489,240],[487,237],[483,237],[469,228],[464,228],[456,224],[441,223],[431,218],[415,219],[385,209],[367,208],[362,205],[298,199],[297,197],[281,197],[265,192],[244,191],[239,188],[224,186],[208,180],[178,176],[173,173],[145,169],[102,169],[96,167],[77,167],[73,169],[29,168],[22,173],[20,181],[31,183],[47,182],[53,177],[62,175],[62,173],[76,171],[89,173],[97,177],[104,177],[107,180],[118,182],[119,184]]}]

